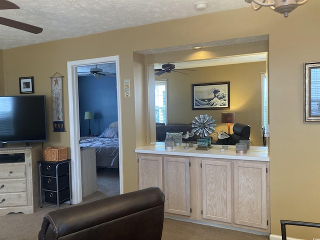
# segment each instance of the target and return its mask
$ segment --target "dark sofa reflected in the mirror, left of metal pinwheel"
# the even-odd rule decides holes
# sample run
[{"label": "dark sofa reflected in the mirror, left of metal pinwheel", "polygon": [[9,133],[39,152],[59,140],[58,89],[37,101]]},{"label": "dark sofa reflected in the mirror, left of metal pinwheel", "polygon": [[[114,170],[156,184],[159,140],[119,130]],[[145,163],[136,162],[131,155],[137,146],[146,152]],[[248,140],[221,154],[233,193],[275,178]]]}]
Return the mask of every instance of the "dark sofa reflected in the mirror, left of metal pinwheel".
[{"label": "dark sofa reflected in the mirror, left of metal pinwheel", "polygon": [[[168,123],[166,125],[157,123],[156,126],[156,141],[164,141],[166,132],[183,132],[183,135],[188,131],[192,131],[191,124],[186,123]],[[198,135],[194,134],[192,137],[187,139],[182,138],[182,141],[195,141],[200,138]]]}]

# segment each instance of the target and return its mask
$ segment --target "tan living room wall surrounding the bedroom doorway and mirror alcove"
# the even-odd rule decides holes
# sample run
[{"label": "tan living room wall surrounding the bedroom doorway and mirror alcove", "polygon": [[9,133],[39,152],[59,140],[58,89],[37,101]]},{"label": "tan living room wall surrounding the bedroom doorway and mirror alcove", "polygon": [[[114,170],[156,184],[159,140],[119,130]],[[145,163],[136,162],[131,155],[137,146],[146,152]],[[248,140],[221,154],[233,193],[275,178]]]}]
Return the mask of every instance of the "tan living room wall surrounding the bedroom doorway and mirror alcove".
[{"label": "tan living room wall surrounding the bedroom doorway and mirror alcove", "polygon": [[[143,133],[136,134],[134,126],[138,125],[138,130],[146,134],[147,125],[145,106],[138,109],[141,115],[135,111],[135,100],[143,100],[135,96],[135,91],[139,94],[145,91],[145,77],[140,73],[137,74],[139,79],[135,79],[133,51],[268,34],[271,233],[279,235],[280,219],[319,221],[320,152],[317,136],[320,128],[319,123],[303,123],[302,92],[303,62],[319,60],[319,9],[320,1],[308,1],[284,18],[267,7],[259,11],[246,7],[6,49],[3,50],[4,92],[6,95],[19,94],[18,77],[34,76],[35,94],[48,97],[49,121],[52,118],[50,76],[57,71],[66,76],[67,61],[119,55],[124,191],[135,190],[134,148],[136,138]],[[123,96],[123,79],[134,79],[131,81],[131,98]],[[69,131],[72,129],[68,129],[66,77],[63,84],[67,131],[52,132],[52,126],[48,124],[46,146],[69,146]],[[137,142],[137,145],[144,143],[140,139]],[[292,227],[287,233],[295,238],[318,237],[310,228]]]}]

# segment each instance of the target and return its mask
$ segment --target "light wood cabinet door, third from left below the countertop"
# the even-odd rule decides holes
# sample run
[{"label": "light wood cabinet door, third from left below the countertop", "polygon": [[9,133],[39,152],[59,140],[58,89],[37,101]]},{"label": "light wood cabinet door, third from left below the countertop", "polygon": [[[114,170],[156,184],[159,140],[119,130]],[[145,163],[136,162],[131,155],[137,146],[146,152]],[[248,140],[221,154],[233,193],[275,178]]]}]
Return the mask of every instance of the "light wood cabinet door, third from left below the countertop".
[{"label": "light wood cabinet door, third from left below the countertop", "polygon": [[202,160],[202,217],[232,221],[231,162]]}]

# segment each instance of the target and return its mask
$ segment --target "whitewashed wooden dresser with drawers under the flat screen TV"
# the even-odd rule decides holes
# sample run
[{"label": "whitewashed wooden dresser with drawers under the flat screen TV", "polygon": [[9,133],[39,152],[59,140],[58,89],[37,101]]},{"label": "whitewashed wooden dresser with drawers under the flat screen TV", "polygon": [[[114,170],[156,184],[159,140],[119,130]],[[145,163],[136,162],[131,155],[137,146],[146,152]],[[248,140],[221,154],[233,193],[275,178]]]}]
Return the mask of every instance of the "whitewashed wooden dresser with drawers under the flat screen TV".
[{"label": "whitewashed wooden dresser with drawers under the flat screen TV", "polygon": [[0,148],[0,215],[33,213],[39,207],[38,161],[42,144]]}]

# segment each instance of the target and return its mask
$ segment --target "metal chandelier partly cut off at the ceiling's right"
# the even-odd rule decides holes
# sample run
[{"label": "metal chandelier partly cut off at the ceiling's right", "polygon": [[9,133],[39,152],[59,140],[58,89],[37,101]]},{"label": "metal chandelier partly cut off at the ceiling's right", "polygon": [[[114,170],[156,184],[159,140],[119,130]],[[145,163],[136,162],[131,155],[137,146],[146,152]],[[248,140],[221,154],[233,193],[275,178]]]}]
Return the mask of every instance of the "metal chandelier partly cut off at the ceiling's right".
[{"label": "metal chandelier partly cut off at the ceiling's right", "polygon": [[251,3],[253,10],[258,10],[262,6],[269,6],[272,10],[287,17],[297,6],[304,4],[307,0],[245,0]]}]

